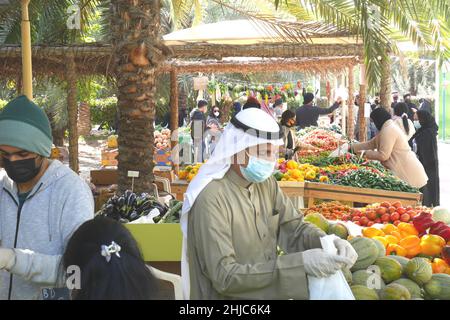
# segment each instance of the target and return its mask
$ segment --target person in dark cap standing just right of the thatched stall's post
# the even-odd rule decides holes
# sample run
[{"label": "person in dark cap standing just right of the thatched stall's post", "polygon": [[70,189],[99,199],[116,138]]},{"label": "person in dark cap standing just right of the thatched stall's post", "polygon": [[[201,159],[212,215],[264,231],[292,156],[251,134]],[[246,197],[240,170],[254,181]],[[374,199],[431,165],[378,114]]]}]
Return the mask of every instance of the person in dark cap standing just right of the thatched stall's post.
[{"label": "person in dark cap standing just right of the thatched stall's post", "polygon": [[208,102],[206,100],[199,100],[197,103],[197,110],[195,110],[191,118],[194,162],[203,162],[205,157],[205,131],[207,130],[206,112],[208,112]]}]

